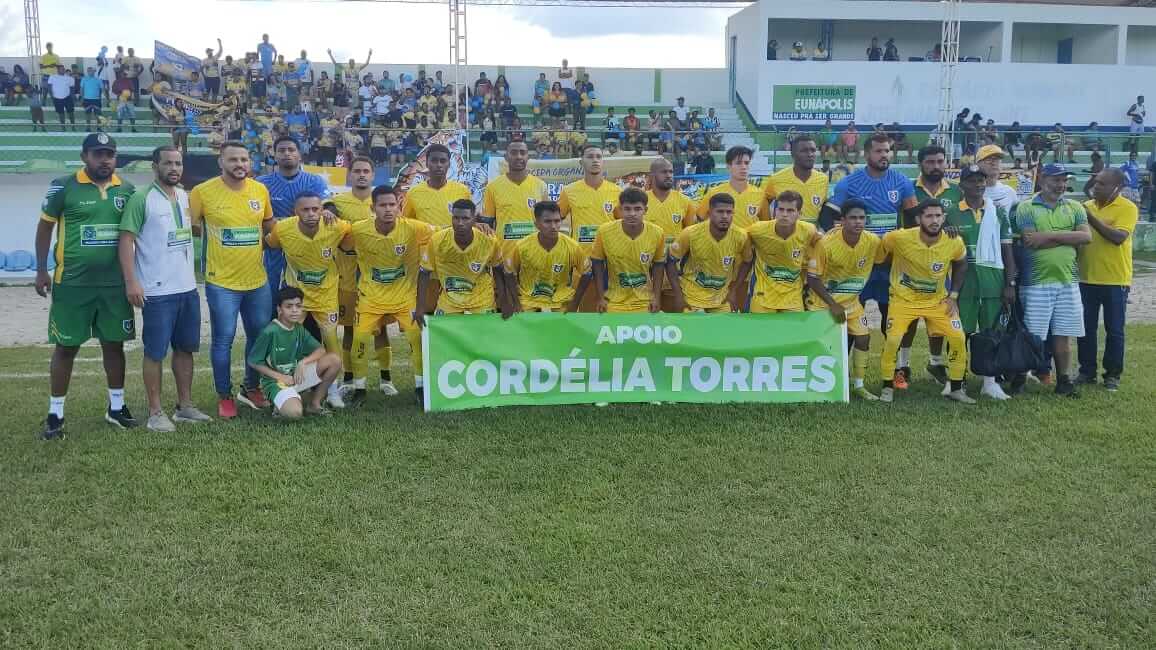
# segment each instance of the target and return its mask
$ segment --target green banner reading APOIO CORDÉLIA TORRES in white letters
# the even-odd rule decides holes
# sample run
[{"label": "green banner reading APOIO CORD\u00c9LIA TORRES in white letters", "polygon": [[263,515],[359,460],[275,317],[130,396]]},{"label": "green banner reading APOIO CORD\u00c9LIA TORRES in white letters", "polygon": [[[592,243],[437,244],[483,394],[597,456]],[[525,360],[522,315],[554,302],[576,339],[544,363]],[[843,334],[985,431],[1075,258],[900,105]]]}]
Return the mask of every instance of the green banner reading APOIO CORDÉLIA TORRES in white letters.
[{"label": "green banner reading APOIO CORD\u00c9LIA TORRES in white letters", "polygon": [[847,401],[845,325],[806,313],[427,317],[425,411]]}]

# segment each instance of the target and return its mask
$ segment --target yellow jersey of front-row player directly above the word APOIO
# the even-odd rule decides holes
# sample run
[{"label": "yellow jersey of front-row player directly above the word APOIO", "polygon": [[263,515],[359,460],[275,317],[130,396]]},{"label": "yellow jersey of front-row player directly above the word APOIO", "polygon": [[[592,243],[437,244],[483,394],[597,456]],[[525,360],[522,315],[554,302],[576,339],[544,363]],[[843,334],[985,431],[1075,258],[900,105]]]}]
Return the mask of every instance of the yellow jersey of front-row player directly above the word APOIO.
[{"label": "yellow jersey of front-row player directly above the word APOIO", "polygon": [[594,235],[591,259],[606,263],[607,311],[645,311],[650,308],[650,272],[666,263],[662,229],[643,222],[643,231],[631,238],[621,221],[603,223]]}]

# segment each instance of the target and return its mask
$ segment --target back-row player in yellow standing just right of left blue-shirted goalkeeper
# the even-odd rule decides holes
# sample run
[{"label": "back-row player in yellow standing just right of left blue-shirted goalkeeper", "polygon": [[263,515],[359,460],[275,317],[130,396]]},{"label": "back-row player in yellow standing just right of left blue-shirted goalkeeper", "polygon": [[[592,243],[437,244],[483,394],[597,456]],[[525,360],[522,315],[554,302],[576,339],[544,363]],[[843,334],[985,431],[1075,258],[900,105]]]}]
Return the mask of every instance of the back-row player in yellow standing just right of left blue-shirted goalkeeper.
[{"label": "back-row player in yellow standing just right of left blue-shirted goalkeeper", "polygon": [[[373,192],[373,161],[366,156],[356,156],[351,161],[349,186],[351,189],[348,192],[333,197],[333,207],[338,217],[349,222],[350,226],[358,221],[372,220],[373,206],[370,195]],[[338,259],[338,325],[341,325],[342,328],[341,368],[344,370],[342,379],[349,384],[354,379],[350,350],[354,347],[354,325],[357,323],[357,252],[338,249],[333,254]],[[384,367],[388,368],[392,361],[388,338],[384,340],[384,352],[386,357]],[[378,355],[381,354],[383,350],[378,349]],[[388,377],[390,371],[385,372]],[[385,383],[390,387],[383,386],[383,392],[398,394],[392,381]]]}]

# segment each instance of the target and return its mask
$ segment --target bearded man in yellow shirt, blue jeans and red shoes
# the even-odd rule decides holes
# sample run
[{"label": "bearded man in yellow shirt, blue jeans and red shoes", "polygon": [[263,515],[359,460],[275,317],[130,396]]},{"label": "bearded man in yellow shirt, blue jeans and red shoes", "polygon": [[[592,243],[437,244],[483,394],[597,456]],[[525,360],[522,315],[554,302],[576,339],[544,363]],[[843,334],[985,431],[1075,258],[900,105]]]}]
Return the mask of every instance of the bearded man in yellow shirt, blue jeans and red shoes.
[{"label": "bearded man in yellow shirt, blue jeans and red shoes", "polygon": [[[251,161],[243,142],[221,145],[221,176],[188,193],[193,236],[205,236],[205,301],[209,306],[213,342],[209,360],[217,392],[217,415],[237,416],[229,369],[237,317],[245,328],[245,355],[269,322],[273,297],[264,264],[265,234],[273,228],[273,208],[265,185],[249,178]],[[245,369],[237,400],[252,408],[268,406],[257,372]]]}]

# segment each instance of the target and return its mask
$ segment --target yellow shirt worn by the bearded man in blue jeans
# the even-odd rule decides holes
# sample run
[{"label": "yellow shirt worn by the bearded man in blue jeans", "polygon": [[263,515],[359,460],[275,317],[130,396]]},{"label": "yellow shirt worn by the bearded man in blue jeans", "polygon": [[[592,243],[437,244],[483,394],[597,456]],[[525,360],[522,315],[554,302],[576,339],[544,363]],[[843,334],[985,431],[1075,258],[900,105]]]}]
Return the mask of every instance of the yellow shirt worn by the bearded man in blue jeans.
[{"label": "yellow shirt worn by the bearded man in blue jeans", "polygon": [[261,224],[273,219],[273,204],[265,185],[246,178],[231,190],[221,177],[201,183],[188,193],[193,224],[205,227],[205,281],[224,289],[251,291],[264,287]]}]

